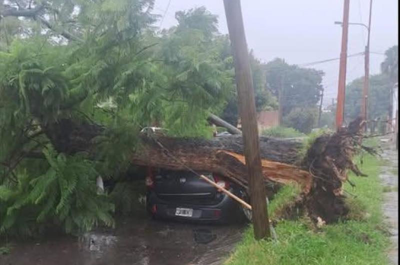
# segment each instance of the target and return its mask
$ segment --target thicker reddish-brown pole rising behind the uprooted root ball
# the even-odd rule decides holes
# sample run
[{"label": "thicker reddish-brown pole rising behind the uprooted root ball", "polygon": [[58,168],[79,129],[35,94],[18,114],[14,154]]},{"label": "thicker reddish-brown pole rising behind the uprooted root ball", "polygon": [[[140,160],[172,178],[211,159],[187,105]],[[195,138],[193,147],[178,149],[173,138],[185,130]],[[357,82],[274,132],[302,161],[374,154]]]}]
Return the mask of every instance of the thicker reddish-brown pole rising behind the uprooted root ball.
[{"label": "thicker reddish-brown pole rising behind the uprooted root ball", "polygon": [[349,10],[349,0],[344,0],[343,24],[341,31],[339,83],[337,87],[336,129],[341,127],[341,124],[343,123],[343,114],[344,114],[344,95],[346,87],[346,63],[347,63],[348,10]]}]

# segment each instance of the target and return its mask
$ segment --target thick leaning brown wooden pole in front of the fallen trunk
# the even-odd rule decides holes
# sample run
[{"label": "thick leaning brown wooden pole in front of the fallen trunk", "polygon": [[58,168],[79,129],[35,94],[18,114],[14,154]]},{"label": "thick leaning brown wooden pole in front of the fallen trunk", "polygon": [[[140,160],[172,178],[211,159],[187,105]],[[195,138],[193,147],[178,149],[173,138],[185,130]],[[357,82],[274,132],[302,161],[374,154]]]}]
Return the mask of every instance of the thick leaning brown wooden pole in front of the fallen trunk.
[{"label": "thick leaning brown wooden pole in front of the fallen trunk", "polygon": [[249,177],[250,204],[255,239],[270,237],[266,192],[261,171],[255,99],[244,35],[240,0],[223,0],[233,51],[236,89],[239,99],[244,157]]}]

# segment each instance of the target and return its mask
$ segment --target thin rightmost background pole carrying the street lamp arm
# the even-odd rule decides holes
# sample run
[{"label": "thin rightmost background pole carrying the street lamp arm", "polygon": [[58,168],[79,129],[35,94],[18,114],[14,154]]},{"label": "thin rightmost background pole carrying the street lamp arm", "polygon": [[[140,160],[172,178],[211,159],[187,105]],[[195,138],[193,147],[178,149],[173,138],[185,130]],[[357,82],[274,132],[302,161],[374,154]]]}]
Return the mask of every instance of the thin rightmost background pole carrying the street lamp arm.
[{"label": "thin rightmost background pole carrying the street lamp arm", "polygon": [[[369,19],[368,19],[368,36],[365,46],[365,54],[364,54],[364,85],[362,87],[362,98],[361,98],[361,116],[366,120],[368,119],[367,110],[368,110],[368,90],[369,90],[369,33],[371,31],[371,11],[372,11],[372,0],[369,1]],[[366,129],[366,125],[365,125]]]}]

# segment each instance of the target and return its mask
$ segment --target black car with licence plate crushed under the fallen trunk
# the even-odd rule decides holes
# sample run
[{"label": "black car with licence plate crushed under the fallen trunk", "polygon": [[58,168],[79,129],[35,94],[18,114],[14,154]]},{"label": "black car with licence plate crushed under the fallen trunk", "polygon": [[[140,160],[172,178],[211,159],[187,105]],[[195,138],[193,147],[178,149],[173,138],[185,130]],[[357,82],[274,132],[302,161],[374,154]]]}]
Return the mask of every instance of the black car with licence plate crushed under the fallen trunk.
[{"label": "black car with licence plate crushed under the fallen trunk", "polygon": [[[198,173],[247,200],[244,189],[223,176]],[[251,214],[190,171],[147,168],[145,183],[146,208],[154,218],[226,223],[245,221]]]}]

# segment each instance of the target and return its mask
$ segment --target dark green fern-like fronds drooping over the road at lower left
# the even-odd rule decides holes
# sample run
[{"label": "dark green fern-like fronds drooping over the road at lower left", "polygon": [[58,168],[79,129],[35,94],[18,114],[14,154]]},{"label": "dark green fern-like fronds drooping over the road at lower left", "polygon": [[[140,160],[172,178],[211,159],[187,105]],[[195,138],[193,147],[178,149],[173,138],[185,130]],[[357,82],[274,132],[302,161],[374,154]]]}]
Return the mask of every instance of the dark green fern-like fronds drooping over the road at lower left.
[{"label": "dark green fern-like fronds drooping over the road at lower left", "polygon": [[[41,175],[18,174],[18,184],[0,185],[0,233],[32,235],[40,224],[52,223],[67,233],[113,225],[113,204],[97,194],[93,162],[80,155],[43,149],[48,167]],[[39,225],[38,225],[39,224]]]}]

